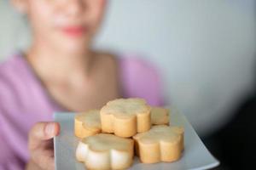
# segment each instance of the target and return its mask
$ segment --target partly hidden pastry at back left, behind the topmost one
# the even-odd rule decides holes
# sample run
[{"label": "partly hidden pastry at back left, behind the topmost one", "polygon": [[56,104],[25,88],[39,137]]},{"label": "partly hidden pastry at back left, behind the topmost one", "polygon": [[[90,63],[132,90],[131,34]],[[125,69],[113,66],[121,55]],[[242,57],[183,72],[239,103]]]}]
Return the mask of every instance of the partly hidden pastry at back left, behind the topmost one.
[{"label": "partly hidden pastry at back left, behind the topmost one", "polygon": [[101,133],[101,118],[99,110],[79,113],[74,118],[74,133],[79,138],[85,138],[96,133]]}]

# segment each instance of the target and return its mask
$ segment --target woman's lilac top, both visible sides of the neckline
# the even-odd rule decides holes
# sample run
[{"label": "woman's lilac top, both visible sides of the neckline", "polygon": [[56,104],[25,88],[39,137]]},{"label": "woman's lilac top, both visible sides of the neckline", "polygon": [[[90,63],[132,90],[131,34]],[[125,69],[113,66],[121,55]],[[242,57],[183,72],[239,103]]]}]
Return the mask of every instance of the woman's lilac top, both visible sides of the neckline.
[{"label": "woman's lilac top, both visible sides of the neckline", "polygon": [[[135,55],[119,58],[124,98],[140,97],[150,105],[163,105],[157,71]],[[0,65],[0,170],[24,169],[29,159],[27,135],[35,122],[52,121],[62,111],[50,98],[21,54]]]}]

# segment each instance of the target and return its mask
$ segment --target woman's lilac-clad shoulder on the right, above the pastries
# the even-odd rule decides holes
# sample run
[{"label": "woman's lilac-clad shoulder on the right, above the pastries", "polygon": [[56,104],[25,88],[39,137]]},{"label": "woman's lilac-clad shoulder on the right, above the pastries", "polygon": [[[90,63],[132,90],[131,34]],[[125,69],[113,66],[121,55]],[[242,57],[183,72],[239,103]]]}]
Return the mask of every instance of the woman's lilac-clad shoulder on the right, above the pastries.
[{"label": "woman's lilac-clad shoulder on the right, above the pastries", "polygon": [[150,105],[164,105],[160,69],[138,54],[123,54],[119,58],[125,97],[141,97]]}]

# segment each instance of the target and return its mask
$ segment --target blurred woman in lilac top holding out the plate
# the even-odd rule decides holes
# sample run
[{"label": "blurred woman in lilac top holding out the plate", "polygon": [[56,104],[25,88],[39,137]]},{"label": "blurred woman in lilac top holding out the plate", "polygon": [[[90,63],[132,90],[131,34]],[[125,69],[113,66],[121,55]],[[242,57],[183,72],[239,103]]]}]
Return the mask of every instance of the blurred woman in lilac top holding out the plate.
[{"label": "blurred woman in lilac top holding out the plate", "polygon": [[12,3],[26,14],[33,38],[0,65],[0,169],[54,169],[52,139],[60,132],[54,111],[86,111],[120,97],[163,105],[150,65],[90,48],[106,0]]}]

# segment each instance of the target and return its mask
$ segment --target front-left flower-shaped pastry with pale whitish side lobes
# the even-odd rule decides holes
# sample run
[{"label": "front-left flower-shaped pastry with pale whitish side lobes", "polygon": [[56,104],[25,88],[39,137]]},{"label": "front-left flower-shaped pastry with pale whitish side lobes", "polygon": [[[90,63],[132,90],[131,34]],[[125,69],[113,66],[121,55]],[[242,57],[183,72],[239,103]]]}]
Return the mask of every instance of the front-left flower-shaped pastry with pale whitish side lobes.
[{"label": "front-left flower-shaped pastry with pale whitish side lobes", "polygon": [[99,133],[79,142],[76,157],[88,169],[125,169],[132,164],[133,150],[133,139]]}]

